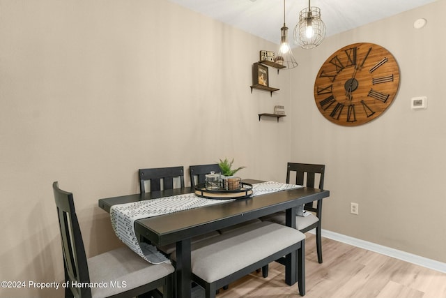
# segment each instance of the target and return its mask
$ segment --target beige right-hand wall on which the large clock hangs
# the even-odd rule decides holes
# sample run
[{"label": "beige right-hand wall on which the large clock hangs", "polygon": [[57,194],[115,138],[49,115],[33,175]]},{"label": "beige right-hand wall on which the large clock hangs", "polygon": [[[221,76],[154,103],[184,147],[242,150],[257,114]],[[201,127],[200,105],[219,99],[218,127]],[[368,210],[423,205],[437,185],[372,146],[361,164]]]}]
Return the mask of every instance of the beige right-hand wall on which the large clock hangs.
[{"label": "beige right-hand wall on which the large clock hangs", "polygon": [[[323,228],[446,262],[446,1],[326,38],[295,50],[300,67],[291,85],[291,160],[326,164]],[[423,29],[413,22],[426,18]],[[351,43],[392,52],[400,87],[392,106],[357,127],[332,124],[314,103],[316,74],[332,52]],[[410,98],[427,96],[427,110]],[[359,215],[350,214],[359,203]]]}]

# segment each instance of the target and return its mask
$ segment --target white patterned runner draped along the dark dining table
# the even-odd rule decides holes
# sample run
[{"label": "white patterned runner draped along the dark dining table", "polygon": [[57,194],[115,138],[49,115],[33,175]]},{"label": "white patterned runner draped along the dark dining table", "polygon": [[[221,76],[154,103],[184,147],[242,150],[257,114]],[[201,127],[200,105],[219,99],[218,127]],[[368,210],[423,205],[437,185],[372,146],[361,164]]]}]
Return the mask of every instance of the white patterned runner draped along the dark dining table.
[{"label": "white patterned runner draped along the dark dining table", "polygon": [[[253,196],[300,187],[302,186],[274,181],[262,182],[252,186]],[[139,243],[134,232],[134,221],[141,218],[169,214],[211,204],[222,204],[233,200],[234,199],[214,200],[200,198],[194,193],[187,193],[184,195],[174,195],[153,200],[116,204],[110,208],[110,218],[113,230],[121,241],[127,244],[132,251],[140,255],[144,260],[151,262],[152,264],[160,264],[162,262],[170,262],[170,260],[162,253],[158,252],[155,246]]]}]

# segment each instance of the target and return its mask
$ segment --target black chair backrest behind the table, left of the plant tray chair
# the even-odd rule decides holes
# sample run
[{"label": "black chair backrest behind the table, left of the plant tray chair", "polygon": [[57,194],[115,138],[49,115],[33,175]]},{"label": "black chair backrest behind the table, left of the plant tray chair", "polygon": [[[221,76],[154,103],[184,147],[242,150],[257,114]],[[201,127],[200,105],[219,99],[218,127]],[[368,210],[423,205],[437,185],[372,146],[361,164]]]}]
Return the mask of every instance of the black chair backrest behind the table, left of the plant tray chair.
[{"label": "black chair backrest behind the table, left of the plant tray chair", "polygon": [[[184,167],[157,167],[139,169],[139,189],[141,193],[162,191],[164,189],[184,187]],[[179,180],[178,187],[174,181]],[[150,181],[150,190],[146,190],[146,181]]]}]

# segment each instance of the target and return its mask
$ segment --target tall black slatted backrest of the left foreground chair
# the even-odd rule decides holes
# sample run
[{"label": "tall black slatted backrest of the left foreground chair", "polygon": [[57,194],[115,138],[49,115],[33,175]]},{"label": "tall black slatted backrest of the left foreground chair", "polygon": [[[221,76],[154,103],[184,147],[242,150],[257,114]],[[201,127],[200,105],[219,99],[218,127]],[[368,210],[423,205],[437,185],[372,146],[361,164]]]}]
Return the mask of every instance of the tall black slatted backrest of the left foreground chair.
[{"label": "tall black slatted backrest of the left foreground chair", "polygon": [[[53,183],[53,191],[59,227],[61,229],[65,280],[69,282],[69,285],[73,283],[90,283],[84,241],[82,241],[72,193],[62,191],[57,181]],[[66,288],[67,291],[68,288]],[[89,287],[70,287],[70,291],[74,297],[91,297],[91,289]]]}]

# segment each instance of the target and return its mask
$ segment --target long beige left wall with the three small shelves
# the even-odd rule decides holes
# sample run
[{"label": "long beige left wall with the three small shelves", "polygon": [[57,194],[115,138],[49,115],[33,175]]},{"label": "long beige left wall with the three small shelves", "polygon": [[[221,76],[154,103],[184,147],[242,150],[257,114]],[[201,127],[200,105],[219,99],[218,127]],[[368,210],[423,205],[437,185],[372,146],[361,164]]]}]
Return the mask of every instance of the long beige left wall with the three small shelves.
[{"label": "long beige left wall with the three small shelves", "polygon": [[[0,0],[0,13],[2,281],[63,279],[53,181],[74,193],[95,255],[120,245],[98,199],[137,193],[139,167],[227,156],[242,177],[283,179],[289,120],[257,114],[289,94],[249,89],[275,45],[161,0]],[[289,77],[270,73],[278,88]]]}]

